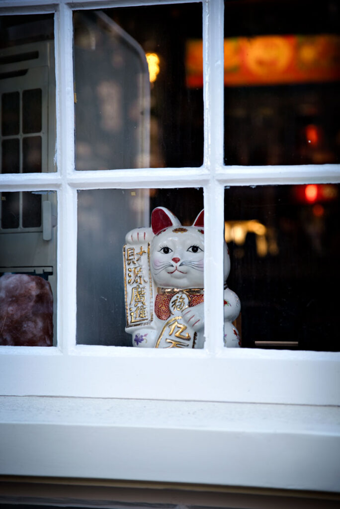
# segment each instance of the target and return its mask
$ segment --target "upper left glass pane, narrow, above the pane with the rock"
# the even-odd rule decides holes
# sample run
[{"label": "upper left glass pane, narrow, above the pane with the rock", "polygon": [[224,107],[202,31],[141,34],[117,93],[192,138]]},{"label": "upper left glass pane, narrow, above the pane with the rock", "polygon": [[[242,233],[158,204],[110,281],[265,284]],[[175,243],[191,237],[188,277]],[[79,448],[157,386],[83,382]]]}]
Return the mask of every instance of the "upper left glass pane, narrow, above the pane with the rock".
[{"label": "upper left glass pane, narrow, above the pane with the rock", "polygon": [[0,173],[56,169],[53,27],[53,14],[0,16]]}]

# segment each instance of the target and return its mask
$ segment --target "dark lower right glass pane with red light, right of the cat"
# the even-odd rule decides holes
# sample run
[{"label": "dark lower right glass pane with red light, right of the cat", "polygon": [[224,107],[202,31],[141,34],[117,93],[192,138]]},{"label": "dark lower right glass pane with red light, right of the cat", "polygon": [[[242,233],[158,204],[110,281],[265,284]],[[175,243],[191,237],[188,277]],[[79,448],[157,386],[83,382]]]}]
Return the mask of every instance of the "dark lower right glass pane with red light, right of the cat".
[{"label": "dark lower right glass pane with red light, right of the cat", "polygon": [[340,186],[232,187],[224,217],[242,347],[340,350]]}]

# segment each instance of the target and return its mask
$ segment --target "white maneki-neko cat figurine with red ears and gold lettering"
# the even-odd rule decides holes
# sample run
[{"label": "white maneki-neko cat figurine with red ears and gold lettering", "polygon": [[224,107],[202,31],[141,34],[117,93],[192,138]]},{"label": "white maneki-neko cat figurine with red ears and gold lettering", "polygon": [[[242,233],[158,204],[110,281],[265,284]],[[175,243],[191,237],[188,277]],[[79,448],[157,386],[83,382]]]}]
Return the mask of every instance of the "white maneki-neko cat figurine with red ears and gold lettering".
[{"label": "white maneki-neko cat figurine with red ears and gold lettering", "polygon": [[[157,207],[151,228],[125,237],[124,283],[126,332],[145,348],[203,348],[204,211],[183,227],[172,212]],[[224,249],[224,277],[230,271]],[[232,324],[240,313],[237,295],[224,284],[224,345],[240,346]]]}]

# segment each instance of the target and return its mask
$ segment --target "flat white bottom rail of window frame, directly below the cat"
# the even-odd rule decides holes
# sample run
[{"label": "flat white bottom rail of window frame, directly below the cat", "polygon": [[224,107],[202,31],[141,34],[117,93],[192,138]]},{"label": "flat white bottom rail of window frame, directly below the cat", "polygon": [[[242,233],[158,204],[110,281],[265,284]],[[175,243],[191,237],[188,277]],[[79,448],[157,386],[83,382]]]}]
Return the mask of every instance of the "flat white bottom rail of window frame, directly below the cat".
[{"label": "flat white bottom rail of window frame, directly below the cat", "polygon": [[[2,347],[1,394],[339,405],[339,354]],[[66,346],[63,346],[63,351]],[[5,350],[6,349],[6,350]],[[21,350],[20,350],[21,349]],[[52,349],[46,349],[51,352]],[[59,353],[58,353],[59,352]],[[306,355],[304,355],[306,354]],[[299,358],[300,357],[300,358]]]}]

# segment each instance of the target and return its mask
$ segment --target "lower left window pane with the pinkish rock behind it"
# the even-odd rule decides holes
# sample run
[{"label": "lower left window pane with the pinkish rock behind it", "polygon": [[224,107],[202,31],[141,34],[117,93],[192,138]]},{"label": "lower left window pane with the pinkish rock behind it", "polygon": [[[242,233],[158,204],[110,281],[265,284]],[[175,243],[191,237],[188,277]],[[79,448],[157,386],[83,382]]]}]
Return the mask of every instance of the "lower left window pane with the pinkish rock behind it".
[{"label": "lower left window pane with the pinkish rock behind it", "polygon": [[56,192],[3,192],[1,205],[0,345],[55,346]]}]

